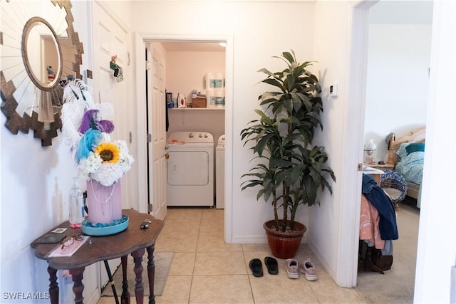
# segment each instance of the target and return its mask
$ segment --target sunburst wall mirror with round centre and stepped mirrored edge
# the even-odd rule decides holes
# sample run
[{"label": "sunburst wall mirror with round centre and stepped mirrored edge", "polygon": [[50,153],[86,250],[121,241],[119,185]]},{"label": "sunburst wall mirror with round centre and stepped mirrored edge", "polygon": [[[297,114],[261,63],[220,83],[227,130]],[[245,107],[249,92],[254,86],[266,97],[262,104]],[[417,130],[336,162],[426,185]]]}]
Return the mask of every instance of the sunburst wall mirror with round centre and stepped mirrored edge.
[{"label": "sunburst wall mirror with round centre and stepped mirrored edge", "polygon": [[63,86],[81,78],[83,44],[71,1],[1,0],[1,111],[5,126],[52,145],[62,127]]}]

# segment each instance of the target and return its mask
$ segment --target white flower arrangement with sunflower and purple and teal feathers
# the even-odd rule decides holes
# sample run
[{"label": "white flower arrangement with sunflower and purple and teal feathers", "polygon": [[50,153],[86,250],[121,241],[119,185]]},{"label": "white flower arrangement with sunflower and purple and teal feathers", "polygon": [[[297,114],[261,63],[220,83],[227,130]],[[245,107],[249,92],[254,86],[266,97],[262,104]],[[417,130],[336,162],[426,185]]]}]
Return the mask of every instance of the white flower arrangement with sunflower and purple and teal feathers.
[{"label": "white flower arrangement with sunflower and purple and teal feathers", "polygon": [[110,103],[93,103],[87,86],[73,80],[63,91],[62,127],[66,144],[75,153],[83,177],[111,186],[131,168],[134,159],[123,140],[111,140],[113,122],[103,117],[112,114]]}]

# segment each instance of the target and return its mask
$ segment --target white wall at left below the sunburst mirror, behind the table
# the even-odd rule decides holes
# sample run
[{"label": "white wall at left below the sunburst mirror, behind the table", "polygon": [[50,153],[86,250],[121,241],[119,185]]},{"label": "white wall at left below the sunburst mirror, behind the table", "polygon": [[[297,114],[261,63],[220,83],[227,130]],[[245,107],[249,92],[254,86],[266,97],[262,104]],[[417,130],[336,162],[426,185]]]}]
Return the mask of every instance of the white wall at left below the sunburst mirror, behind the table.
[{"label": "white wall at left below the sunburst mirror, behind the table", "polygon": [[[120,1],[118,1],[120,2]],[[73,1],[73,26],[83,43],[83,65],[81,73],[90,66],[90,2]],[[128,1],[121,2],[123,10]],[[129,23],[130,14],[126,14]],[[6,117],[0,115],[1,140],[1,275],[0,290],[2,303],[11,303],[4,293],[48,291],[49,276],[46,261],[38,260],[30,243],[56,224],[68,219],[68,192],[75,174],[74,160],[63,142],[61,132],[53,138],[50,147],[41,147],[41,140],[19,132],[12,135],[6,130]],[[85,187],[80,181],[81,188]],[[63,280],[63,271],[58,271],[60,303],[72,303],[72,283]],[[95,300],[98,285],[98,266],[86,267],[84,272],[85,301]],[[95,290],[95,291],[94,291]],[[89,300],[91,299],[91,300]],[[33,300],[33,303],[48,303]],[[30,299],[19,299],[14,303],[32,303]]]}]

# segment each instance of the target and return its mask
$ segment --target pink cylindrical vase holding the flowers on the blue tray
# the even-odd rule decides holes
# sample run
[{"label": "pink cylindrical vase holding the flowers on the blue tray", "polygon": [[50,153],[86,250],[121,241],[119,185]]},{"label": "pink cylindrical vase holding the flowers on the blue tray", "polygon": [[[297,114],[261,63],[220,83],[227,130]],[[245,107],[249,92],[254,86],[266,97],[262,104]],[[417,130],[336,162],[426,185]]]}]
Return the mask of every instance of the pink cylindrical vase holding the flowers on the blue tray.
[{"label": "pink cylindrical vase holding the flowers on the blue tray", "polygon": [[90,179],[87,182],[88,220],[92,224],[112,224],[122,218],[120,181],[109,187]]}]

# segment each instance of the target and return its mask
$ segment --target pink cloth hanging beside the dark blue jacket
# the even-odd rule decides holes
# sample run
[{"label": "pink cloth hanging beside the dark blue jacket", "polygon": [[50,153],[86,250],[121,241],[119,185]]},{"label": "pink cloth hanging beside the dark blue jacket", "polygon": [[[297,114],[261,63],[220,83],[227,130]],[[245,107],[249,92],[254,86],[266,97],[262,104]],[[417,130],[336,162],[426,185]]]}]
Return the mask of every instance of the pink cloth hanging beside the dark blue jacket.
[{"label": "pink cloth hanging beside the dark blue jacket", "polygon": [[371,202],[361,194],[361,218],[359,222],[359,239],[371,241],[375,248],[383,249],[385,241],[380,237],[378,229],[378,211],[372,206]]}]

